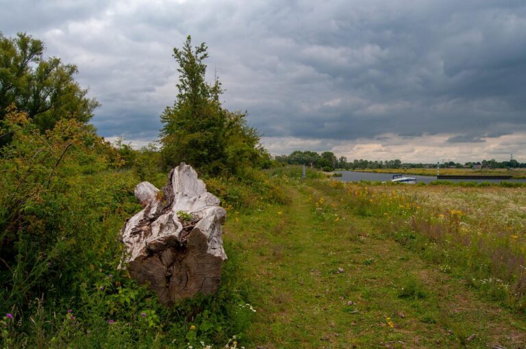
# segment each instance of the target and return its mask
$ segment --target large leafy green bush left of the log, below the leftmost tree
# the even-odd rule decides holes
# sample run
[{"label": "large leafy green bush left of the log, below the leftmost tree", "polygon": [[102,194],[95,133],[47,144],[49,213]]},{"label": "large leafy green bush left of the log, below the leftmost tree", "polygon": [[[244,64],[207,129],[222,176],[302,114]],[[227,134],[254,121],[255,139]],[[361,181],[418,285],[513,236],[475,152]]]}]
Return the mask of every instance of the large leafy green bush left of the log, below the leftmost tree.
[{"label": "large leafy green bush left of the log, below the leftmost tree", "polygon": [[[3,266],[0,296],[19,311],[44,293],[72,295],[86,281],[90,252],[112,244],[108,214],[129,214],[133,181],[106,170],[118,154],[76,120],[59,120],[40,134],[25,114],[10,112],[2,133],[0,231]],[[112,160],[113,159],[113,160]]]}]

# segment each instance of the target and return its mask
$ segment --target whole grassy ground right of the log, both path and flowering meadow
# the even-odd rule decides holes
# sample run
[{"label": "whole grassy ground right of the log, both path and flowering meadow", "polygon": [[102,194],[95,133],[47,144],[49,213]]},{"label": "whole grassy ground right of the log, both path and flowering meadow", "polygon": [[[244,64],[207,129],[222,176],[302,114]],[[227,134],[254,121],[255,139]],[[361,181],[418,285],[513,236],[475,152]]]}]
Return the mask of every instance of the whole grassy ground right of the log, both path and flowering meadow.
[{"label": "whole grassy ground right of the log, both path and flowering meadow", "polygon": [[523,190],[283,181],[289,205],[226,224],[254,288],[242,345],[526,343]]}]

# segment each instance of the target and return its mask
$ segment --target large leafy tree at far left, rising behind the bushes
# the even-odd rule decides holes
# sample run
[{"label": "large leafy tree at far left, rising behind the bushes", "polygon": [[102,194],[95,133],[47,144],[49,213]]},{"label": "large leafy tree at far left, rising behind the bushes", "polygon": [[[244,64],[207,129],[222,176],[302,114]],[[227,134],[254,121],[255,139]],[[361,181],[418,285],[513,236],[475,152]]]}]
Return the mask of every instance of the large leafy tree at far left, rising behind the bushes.
[{"label": "large leafy tree at far left, rising behind the bushes", "polygon": [[45,59],[44,51],[43,42],[27,34],[0,34],[0,120],[10,105],[25,112],[40,131],[63,118],[90,120],[99,103],[75,81],[77,66],[58,57]]}]

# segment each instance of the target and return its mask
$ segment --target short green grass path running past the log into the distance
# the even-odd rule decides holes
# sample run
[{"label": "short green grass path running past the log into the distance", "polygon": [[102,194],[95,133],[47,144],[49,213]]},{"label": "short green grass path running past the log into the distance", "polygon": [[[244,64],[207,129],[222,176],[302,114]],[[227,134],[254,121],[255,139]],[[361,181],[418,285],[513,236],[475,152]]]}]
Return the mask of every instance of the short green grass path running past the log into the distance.
[{"label": "short green grass path running past the log into the distance", "polygon": [[291,203],[230,219],[257,309],[260,348],[520,348],[525,322],[426,266],[364,218],[316,214],[308,186]]}]

